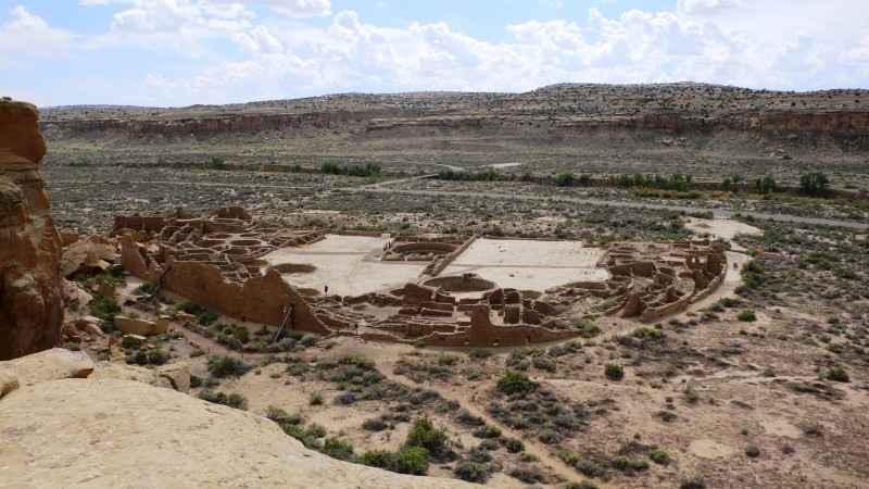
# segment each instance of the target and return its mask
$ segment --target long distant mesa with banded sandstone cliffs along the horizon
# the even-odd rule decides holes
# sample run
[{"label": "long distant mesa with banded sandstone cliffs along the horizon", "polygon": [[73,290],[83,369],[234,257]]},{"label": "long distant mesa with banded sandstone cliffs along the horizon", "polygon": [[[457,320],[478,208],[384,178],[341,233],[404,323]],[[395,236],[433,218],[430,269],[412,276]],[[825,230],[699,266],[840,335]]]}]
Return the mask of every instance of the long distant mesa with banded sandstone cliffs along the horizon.
[{"label": "long distant mesa with banded sandstone cliffs along the horizon", "polygon": [[543,137],[537,130],[542,128],[549,145],[563,142],[557,137],[588,131],[729,130],[781,138],[785,135],[774,133],[833,135],[844,148],[864,148],[869,110],[860,97],[866,95],[867,90],[794,93],[690,83],[564,84],[525,93],[348,93],[179,109],[50,108],[40,125],[52,140],[102,139],[110,147],[154,137],[166,141],[231,134],[317,136],[354,143],[360,138],[407,136],[407,129],[426,136],[474,133],[536,140]]}]

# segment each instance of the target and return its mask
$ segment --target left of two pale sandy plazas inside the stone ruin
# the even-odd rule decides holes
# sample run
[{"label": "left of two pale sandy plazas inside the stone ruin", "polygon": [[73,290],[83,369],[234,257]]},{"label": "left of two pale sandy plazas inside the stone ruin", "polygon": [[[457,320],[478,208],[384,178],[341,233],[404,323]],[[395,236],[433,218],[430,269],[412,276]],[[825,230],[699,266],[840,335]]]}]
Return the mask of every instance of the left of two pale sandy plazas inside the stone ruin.
[{"label": "left of two pale sandy plazas inside the stone ruin", "polygon": [[317,267],[308,274],[285,274],[295,287],[329,293],[361,296],[375,290],[401,288],[416,283],[428,262],[381,262],[388,238],[326,235],[326,239],[301,248],[281,248],[263,259],[272,264],[310,263]]}]

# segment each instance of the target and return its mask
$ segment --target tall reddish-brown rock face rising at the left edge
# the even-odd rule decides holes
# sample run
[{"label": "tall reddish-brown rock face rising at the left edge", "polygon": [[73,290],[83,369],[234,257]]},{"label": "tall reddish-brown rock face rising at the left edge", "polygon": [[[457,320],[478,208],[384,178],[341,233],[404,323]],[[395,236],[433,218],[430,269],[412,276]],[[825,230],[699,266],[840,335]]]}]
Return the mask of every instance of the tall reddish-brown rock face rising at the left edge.
[{"label": "tall reddish-brown rock face rising at the left edge", "polygon": [[0,360],[61,340],[63,244],[37,172],[37,116],[29,103],[0,100]]}]

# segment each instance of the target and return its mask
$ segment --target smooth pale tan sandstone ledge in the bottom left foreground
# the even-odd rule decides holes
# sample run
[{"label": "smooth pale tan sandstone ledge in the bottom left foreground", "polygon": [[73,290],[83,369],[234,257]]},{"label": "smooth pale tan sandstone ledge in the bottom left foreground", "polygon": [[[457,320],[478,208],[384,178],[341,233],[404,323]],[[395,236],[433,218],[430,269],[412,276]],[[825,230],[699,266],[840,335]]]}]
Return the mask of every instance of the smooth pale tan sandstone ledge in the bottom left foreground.
[{"label": "smooth pale tan sandstone ledge in the bottom left foreground", "polygon": [[60,349],[0,362],[0,485],[470,487],[339,462],[264,417],[127,380],[135,367],[89,362]]}]

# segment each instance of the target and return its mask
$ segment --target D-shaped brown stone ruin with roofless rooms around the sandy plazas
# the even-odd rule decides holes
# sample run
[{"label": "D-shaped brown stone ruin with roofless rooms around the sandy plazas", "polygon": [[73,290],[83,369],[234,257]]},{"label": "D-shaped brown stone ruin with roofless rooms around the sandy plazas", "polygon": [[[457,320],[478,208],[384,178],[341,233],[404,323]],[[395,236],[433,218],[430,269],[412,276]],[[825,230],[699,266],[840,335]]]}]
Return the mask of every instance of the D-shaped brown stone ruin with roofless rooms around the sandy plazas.
[{"label": "D-shaped brown stone ruin with roofless rooms around the sandy plazas", "polygon": [[[517,290],[475,274],[439,275],[476,236],[399,234],[381,260],[430,262],[420,276],[401,288],[342,297],[290,285],[288,276],[313,265],[263,260],[326,234],[261,223],[240,208],[204,217],[180,209],[165,218],[117,216],[113,231],[127,271],[226,316],[318,335],[444,347],[562,340],[580,334],[576,319],[602,315],[656,322],[711,293],[728,269],[723,246],[708,240],[614,243],[597,262],[608,272],[605,280]],[[381,318],[368,314],[375,310]]]}]

